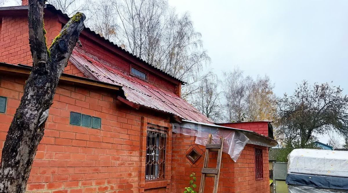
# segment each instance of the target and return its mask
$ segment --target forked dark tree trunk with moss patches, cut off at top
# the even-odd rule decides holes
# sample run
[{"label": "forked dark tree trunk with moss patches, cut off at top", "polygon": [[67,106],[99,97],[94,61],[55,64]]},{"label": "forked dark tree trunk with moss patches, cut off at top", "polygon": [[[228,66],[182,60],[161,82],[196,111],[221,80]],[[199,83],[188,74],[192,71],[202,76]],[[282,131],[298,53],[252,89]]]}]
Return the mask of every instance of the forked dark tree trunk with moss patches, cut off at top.
[{"label": "forked dark tree trunk with moss patches, cut off at top", "polygon": [[85,15],[75,14],[48,50],[44,4],[44,0],[29,0],[29,43],[33,67],[2,150],[0,192],[25,192],[58,81],[84,28]]}]

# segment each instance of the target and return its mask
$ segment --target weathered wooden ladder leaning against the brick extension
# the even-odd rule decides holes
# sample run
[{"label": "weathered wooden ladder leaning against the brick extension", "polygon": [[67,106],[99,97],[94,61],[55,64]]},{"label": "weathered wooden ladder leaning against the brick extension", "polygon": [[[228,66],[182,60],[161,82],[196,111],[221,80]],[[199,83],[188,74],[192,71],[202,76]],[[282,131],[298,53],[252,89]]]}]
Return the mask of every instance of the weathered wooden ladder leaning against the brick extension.
[{"label": "weathered wooden ladder leaning against the brick extension", "polygon": [[[205,146],[206,151],[205,151],[204,164],[202,168],[202,178],[200,180],[199,193],[204,193],[205,177],[214,177],[213,193],[217,193],[217,185],[219,184],[220,165],[221,165],[221,158],[222,158],[222,147],[223,147],[223,138],[220,137],[220,144],[212,144],[212,134],[209,134],[208,143]],[[208,168],[210,152],[218,152],[216,168]]]}]

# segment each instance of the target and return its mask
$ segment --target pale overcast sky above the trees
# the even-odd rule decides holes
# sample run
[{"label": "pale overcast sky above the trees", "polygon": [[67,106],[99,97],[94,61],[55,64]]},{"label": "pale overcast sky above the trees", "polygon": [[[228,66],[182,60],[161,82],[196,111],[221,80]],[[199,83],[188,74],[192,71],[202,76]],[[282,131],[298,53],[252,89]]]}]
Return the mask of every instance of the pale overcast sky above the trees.
[{"label": "pale overcast sky above the trees", "polygon": [[267,74],[275,93],[302,80],[331,82],[348,94],[347,0],[169,0],[189,11],[217,74],[238,66]]}]

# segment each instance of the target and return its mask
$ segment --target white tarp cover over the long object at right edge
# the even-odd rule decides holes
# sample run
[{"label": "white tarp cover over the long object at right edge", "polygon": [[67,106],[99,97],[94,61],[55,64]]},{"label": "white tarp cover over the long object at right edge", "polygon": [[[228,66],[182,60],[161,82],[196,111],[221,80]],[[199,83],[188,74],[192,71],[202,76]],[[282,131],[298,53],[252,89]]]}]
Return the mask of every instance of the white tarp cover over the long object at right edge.
[{"label": "white tarp cover over the long object at right edge", "polygon": [[348,177],[346,151],[295,149],[287,158],[287,173]]}]

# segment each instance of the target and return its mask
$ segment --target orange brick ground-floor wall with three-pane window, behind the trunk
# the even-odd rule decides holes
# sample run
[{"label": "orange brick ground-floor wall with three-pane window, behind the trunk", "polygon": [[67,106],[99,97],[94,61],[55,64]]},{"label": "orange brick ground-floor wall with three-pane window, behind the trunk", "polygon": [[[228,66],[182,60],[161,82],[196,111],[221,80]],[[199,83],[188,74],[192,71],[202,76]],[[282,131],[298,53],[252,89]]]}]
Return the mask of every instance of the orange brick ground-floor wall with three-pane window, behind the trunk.
[{"label": "orange brick ground-floor wall with three-pane window, behind the trunk", "polygon": [[[0,96],[8,98],[6,113],[0,113],[0,149],[23,95],[25,80],[0,74]],[[35,156],[28,192],[135,193],[145,189],[146,192],[156,192],[158,188],[162,189],[161,193],[169,191],[170,156],[166,160],[166,180],[145,183],[141,177],[144,176],[142,135],[146,129],[142,117],[146,124],[171,128],[168,117],[134,111],[120,104],[115,97],[113,93],[102,90],[59,85],[49,111],[45,135]],[[70,125],[71,111],[102,118],[102,129]],[[169,138],[169,154],[170,143]]]}]

